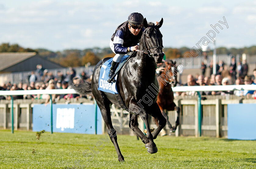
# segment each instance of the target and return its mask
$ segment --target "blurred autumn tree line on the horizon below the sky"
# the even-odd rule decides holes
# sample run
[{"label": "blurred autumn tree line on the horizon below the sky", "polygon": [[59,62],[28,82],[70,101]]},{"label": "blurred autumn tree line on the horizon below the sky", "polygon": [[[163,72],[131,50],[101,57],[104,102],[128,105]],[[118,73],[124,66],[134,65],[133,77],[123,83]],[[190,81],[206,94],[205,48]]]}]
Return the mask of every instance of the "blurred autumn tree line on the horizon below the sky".
[{"label": "blurred autumn tree line on the horizon below the sky", "polygon": [[[87,63],[96,65],[101,59],[106,57],[114,57],[115,54],[110,48],[91,48],[91,49],[66,49],[63,51],[53,52],[48,49],[30,49],[23,48],[18,44],[2,43],[0,45],[0,52],[36,52],[39,56],[48,59],[52,62],[58,63],[64,67],[72,66],[84,66]],[[163,48],[165,56],[168,59],[183,57],[186,53],[190,53],[190,48]],[[244,47],[244,48],[226,48],[219,47],[216,49],[217,54],[237,54],[243,53],[248,55],[256,55],[256,46]],[[212,55],[213,51],[209,51],[208,55]]]}]

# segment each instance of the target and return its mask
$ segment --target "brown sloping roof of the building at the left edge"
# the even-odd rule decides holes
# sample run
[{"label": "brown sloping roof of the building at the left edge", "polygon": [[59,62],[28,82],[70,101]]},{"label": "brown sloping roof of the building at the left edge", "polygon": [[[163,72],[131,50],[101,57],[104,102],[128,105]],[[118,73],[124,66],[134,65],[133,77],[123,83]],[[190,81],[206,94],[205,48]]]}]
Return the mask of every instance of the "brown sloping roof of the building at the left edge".
[{"label": "brown sloping roof of the building at the left edge", "polygon": [[35,56],[36,52],[6,52],[0,53],[0,71],[10,66],[16,65],[32,56]]}]

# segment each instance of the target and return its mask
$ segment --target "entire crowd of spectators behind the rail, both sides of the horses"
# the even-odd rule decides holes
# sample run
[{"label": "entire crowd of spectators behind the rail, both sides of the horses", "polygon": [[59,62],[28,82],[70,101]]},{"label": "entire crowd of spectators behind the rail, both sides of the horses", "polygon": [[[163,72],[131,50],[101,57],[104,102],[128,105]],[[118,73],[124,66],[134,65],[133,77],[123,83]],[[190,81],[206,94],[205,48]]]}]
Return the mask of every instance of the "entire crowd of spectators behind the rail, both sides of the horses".
[{"label": "entire crowd of spectators behind the rail, both sides of the horses", "polygon": [[[235,58],[232,58],[231,64],[228,66],[222,61],[216,65],[216,74],[213,74],[212,62],[209,65],[210,75],[205,76],[206,64],[201,63],[201,75],[197,74],[195,77],[193,75],[187,76],[187,83],[181,84],[178,86],[212,86],[212,85],[255,85],[256,84],[256,69],[253,70],[253,76],[248,76],[248,65],[245,60],[242,63],[238,62],[236,65]],[[160,70],[161,71],[161,70]],[[237,72],[239,73],[237,76]],[[0,90],[43,90],[43,89],[67,89],[72,83],[84,83],[84,80],[90,81],[91,77],[87,77],[85,72],[80,73],[79,76],[76,75],[76,71],[70,67],[69,71],[64,75],[62,72],[58,72],[57,76],[53,76],[52,72],[49,72],[47,69],[43,69],[42,65],[37,65],[36,71],[32,71],[31,75],[28,76],[29,83],[18,83],[11,84],[10,82],[2,83],[0,85]],[[175,96],[193,96],[197,95],[197,92],[176,92]],[[236,96],[247,96],[247,98],[252,97],[256,99],[256,91],[205,91],[201,92],[201,95],[231,95]],[[70,98],[80,98],[86,96],[80,96],[77,94],[61,94],[61,95],[52,95],[53,103],[55,100],[65,99],[69,100]],[[50,96],[47,94],[42,95],[23,95],[23,96],[13,96],[14,99],[44,99],[45,103],[49,103]],[[0,96],[1,99],[10,100],[10,96]]]}]

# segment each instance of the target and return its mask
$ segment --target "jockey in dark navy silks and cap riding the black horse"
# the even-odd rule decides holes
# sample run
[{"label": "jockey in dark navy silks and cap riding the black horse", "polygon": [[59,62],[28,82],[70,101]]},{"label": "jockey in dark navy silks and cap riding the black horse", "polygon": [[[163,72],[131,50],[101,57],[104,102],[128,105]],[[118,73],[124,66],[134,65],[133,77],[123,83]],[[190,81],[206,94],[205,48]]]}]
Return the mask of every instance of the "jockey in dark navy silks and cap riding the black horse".
[{"label": "jockey in dark navy silks and cap riding the black horse", "polygon": [[[118,63],[121,58],[128,52],[137,51],[138,43],[144,31],[143,27],[144,17],[137,12],[128,16],[128,20],[123,22],[116,28],[116,32],[112,35],[110,40],[110,48],[116,54],[111,63],[111,68],[108,74],[108,83],[116,71]],[[116,79],[112,80],[116,82]]]}]

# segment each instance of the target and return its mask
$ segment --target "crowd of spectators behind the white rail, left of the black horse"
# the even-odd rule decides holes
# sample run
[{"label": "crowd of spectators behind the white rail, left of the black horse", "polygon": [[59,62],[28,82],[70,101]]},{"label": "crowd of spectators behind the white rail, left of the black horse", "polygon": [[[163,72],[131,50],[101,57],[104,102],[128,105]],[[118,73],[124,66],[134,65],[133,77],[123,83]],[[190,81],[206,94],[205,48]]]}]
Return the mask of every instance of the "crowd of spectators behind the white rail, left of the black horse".
[{"label": "crowd of spectators behind the white rail, left of the black horse", "polygon": [[[70,67],[69,71],[63,75],[62,72],[58,71],[57,76],[53,76],[52,72],[47,69],[43,69],[42,65],[37,65],[37,70],[32,71],[31,75],[27,77],[29,83],[18,83],[11,84],[10,82],[0,84],[0,90],[43,90],[43,89],[67,89],[72,83],[84,83],[84,80],[90,81],[91,78],[87,77],[85,72],[80,73],[79,76],[76,75],[76,71]],[[61,94],[52,95],[52,101],[58,101],[60,99],[69,100],[70,98],[80,98],[86,96],[80,96],[78,94]],[[11,100],[11,96],[0,96],[0,100]],[[39,94],[39,95],[20,95],[13,96],[13,99],[44,99],[45,103],[49,103],[50,95]]]}]

